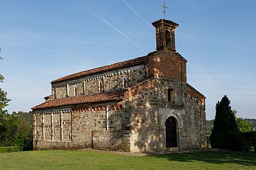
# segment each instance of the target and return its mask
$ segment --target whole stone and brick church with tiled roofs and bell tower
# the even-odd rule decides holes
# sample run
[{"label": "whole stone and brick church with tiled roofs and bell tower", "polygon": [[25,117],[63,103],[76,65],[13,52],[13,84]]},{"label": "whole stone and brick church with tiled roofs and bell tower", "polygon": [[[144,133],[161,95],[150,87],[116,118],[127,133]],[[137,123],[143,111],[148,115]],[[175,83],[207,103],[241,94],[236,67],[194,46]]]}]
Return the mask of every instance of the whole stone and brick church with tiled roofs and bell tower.
[{"label": "whole stone and brick church with tiled roofs and bell tower", "polygon": [[206,147],[206,97],[187,83],[169,20],[146,56],[60,77],[33,111],[34,149],[123,152]]}]

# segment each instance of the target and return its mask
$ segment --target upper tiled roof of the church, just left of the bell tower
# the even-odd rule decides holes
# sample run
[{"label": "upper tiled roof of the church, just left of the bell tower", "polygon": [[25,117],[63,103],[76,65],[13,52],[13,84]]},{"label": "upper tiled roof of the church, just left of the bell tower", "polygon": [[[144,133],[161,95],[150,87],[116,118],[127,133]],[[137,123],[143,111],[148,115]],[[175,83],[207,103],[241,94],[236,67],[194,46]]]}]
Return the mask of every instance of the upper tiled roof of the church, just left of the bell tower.
[{"label": "upper tiled roof of the church, just left of the bell tower", "polygon": [[77,72],[75,74],[64,76],[64,77],[61,77],[57,80],[53,80],[52,83],[59,82],[59,81],[70,80],[70,79],[75,79],[77,77],[87,76],[87,75],[91,75],[91,74],[95,74],[95,73],[103,72],[103,71],[107,71],[107,70],[117,69],[117,68],[123,67],[123,66],[130,66],[130,65],[134,65],[134,64],[139,64],[139,63],[142,63],[142,62],[147,62],[147,60],[148,60],[148,57],[143,56],[143,57],[138,57],[138,58],[132,59],[132,60],[117,62],[115,64],[106,65],[106,66],[103,66],[103,67],[97,67],[95,69],[81,71],[81,72]]}]

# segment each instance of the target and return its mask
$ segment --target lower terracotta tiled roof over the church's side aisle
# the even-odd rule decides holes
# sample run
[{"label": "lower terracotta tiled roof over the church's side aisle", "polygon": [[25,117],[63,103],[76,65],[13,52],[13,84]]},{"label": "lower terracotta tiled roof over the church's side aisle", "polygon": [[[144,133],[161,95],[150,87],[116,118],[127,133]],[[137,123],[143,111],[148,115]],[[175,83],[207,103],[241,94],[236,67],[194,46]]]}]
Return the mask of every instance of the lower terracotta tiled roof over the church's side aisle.
[{"label": "lower terracotta tiled roof over the church's side aisle", "polygon": [[100,101],[111,101],[111,100],[122,100],[122,98],[123,98],[123,91],[111,91],[111,92],[108,91],[105,93],[78,95],[78,96],[72,96],[69,98],[49,100],[31,109],[35,110],[35,109],[53,108],[53,107],[65,106],[65,105],[95,103]]}]

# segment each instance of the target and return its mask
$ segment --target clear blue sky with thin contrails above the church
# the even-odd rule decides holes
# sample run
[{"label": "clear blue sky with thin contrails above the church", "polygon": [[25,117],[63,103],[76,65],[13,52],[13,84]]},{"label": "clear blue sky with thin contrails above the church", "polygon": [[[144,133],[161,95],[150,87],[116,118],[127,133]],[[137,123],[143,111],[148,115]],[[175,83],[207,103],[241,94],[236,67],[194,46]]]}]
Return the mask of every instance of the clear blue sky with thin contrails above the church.
[{"label": "clear blue sky with thin contrails above the church", "polygon": [[[50,81],[147,55],[156,48],[151,22],[159,1],[0,0],[0,84],[8,111],[29,111],[50,94]],[[187,60],[188,83],[207,96],[207,119],[225,94],[238,116],[256,118],[256,1],[166,1],[179,23],[176,50]]]}]

